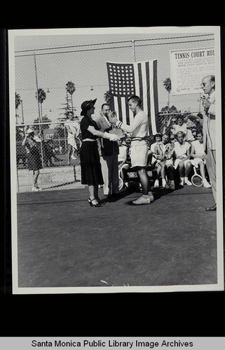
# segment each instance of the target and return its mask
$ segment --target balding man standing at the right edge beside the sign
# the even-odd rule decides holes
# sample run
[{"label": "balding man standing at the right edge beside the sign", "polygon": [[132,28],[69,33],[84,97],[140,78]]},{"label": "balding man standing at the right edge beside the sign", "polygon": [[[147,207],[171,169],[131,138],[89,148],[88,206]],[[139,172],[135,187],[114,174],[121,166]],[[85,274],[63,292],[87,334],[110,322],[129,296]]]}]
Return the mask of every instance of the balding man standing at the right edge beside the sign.
[{"label": "balding man standing at the right edge beside the sign", "polygon": [[203,146],[205,151],[205,162],[207,172],[212,185],[212,195],[215,204],[207,207],[207,211],[217,210],[217,174],[216,174],[216,115],[215,115],[215,77],[205,76],[201,87],[205,92],[203,97]]}]

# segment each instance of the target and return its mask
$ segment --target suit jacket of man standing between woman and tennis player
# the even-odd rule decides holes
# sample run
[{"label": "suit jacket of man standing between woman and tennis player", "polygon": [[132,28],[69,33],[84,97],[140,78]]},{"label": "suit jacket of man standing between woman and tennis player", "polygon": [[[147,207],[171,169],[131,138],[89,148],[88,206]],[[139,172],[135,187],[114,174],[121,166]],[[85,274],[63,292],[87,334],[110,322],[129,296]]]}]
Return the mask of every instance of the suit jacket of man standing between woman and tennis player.
[{"label": "suit jacket of man standing between woman and tennis player", "polygon": [[[112,128],[109,123],[107,123],[107,120],[104,118],[104,116],[100,116],[97,120],[95,120],[97,123],[97,126],[100,128],[100,131],[102,132],[109,132],[109,134],[116,134],[115,129]],[[113,155],[116,153],[118,155],[118,144],[117,141],[109,141],[109,139],[102,139],[101,138],[101,144],[102,144],[102,155]]]}]

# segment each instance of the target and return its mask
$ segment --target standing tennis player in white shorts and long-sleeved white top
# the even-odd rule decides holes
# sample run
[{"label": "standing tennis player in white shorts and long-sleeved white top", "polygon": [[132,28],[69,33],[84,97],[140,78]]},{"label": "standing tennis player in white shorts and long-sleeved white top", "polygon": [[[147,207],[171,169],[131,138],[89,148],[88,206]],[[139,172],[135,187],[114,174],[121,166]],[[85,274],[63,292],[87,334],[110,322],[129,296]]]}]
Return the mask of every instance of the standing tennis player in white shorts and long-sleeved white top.
[{"label": "standing tennis player in white shorts and long-sleeved white top", "polygon": [[142,110],[141,99],[138,96],[132,96],[128,99],[130,110],[135,114],[131,125],[125,125],[116,117],[109,118],[110,123],[116,127],[131,134],[130,160],[131,166],[135,167],[139,175],[139,180],[142,185],[142,196],[137,200],[132,201],[133,204],[149,204],[154,201],[154,196],[151,193],[149,179],[146,174],[146,165],[149,148],[144,137],[148,136],[149,120],[146,113]]}]

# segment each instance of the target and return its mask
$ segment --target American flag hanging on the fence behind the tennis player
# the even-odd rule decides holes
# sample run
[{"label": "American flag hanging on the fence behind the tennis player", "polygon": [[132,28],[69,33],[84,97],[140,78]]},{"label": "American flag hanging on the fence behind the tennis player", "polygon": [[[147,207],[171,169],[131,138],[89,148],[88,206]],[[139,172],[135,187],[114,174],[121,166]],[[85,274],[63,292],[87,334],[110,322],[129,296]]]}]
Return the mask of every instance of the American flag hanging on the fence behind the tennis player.
[{"label": "American flag hanging on the fence behind the tennis player", "polygon": [[111,110],[118,119],[130,125],[134,118],[128,106],[133,94],[142,99],[142,109],[149,118],[149,134],[159,132],[157,60],[132,63],[107,62]]}]

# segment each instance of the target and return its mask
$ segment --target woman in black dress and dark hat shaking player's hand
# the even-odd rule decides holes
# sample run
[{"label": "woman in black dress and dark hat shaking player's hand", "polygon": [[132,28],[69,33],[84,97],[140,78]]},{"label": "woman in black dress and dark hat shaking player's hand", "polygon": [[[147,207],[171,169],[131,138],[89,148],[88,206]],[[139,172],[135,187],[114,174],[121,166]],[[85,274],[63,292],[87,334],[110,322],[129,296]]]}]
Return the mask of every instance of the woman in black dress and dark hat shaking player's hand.
[{"label": "woman in black dress and dark hat shaking player's hand", "polygon": [[89,204],[91,207],[102,207],[98,197],[98,186],[104,183],[102,179],[102,169],[100,164],[100,155],[97,148],[97,139],[103,137],[110,141],[120,140],[115,134],[101,132],[93,120],[95,113],[96,99],[85,101],[81,104],[81,183],[88,185]]}]

